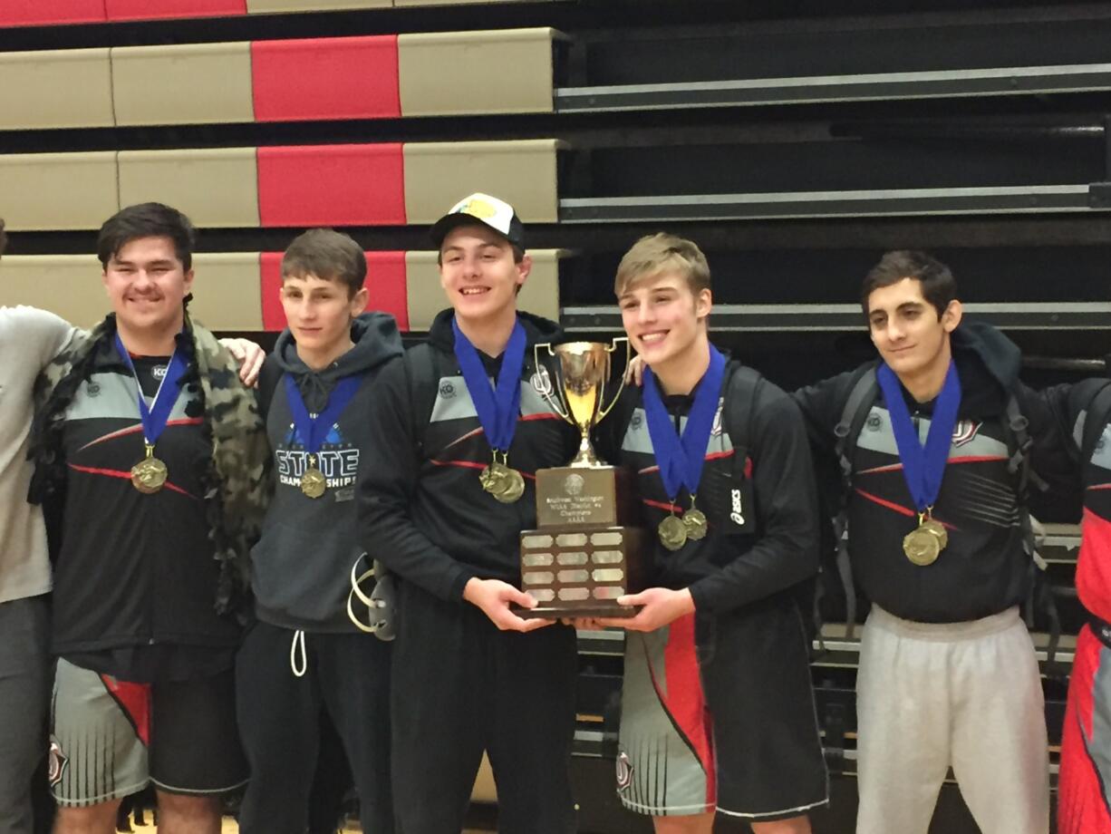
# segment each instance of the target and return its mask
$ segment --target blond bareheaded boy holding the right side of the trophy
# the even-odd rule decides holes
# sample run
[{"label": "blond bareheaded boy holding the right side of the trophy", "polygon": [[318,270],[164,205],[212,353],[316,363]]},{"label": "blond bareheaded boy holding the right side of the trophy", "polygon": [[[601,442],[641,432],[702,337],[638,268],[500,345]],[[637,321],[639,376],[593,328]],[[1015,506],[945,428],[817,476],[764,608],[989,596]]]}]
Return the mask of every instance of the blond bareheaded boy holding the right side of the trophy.
[{"label": "blond bareheaded boy holding the right side of the trophy", "polygon": [[624,418],[603,424],[605,456],[639,473],[657,534],[651,587],[618,599],[640,610],[598,620],[629,631],[618,794],[660,834],[709,834],[715,814],[809,834],[829,791],[795,602],[818,570],[805,426],[710,344],[710,269],[693,242],[641,238],[614,292],[644,370]]}]

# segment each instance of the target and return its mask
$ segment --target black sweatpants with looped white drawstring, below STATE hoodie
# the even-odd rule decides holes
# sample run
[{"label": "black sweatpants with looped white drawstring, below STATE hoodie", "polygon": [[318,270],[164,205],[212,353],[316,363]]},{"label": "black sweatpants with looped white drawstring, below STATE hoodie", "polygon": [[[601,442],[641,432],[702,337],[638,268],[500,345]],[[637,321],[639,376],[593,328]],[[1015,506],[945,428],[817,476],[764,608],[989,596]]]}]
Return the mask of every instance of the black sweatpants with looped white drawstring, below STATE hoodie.
[{"label": "black sweatpants with looped white drawstring, below STATE hoodie", "polygon": [[369,634],[306,634],[308,668],[297,677],[293,635],[258,623],[236,659],[239,731],[251,766],[239,830],[303,834],[327,709],[354,775],[363,832],[392,834],[390,645]]}]

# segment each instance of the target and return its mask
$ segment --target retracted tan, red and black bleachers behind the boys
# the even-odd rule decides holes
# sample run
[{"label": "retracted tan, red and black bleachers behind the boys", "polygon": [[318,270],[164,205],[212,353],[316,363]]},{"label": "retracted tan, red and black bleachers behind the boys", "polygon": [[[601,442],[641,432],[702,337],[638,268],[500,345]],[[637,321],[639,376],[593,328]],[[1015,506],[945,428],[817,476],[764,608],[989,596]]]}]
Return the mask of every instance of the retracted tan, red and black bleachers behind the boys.
[{"label": "retracted tan, red and black bleachers behind the boys", "polygon": [[[1111,8],[975,6],[9,0],[0,302],[96,320],[96,229],[158,199],[200,227],[193,309],[210,326],[272,339],[280,251],[331,225],[366,249],[371,305],[418,337],[443,306],[427,225],[483,190],[528,227],[522,305],[584,338],[620,328],[621,254],[669,229],[709,256],[715,341],[785,388],[871,355],[859,282],[902,247],[953,267],[1031,384],[1105,374]],[[1054,664],[1044,623],[1035,643],[1054,768],[1075,548],[1075,527],[1050,527],[1067,634]],[[835,778],[815,831],[842,834],[858,644],[835,622],[823,638]],[[618,633],[580,635],[584,832],[650,830],[612,794],[621,651]],[[934,831],[969,825],[948,785]]]}]

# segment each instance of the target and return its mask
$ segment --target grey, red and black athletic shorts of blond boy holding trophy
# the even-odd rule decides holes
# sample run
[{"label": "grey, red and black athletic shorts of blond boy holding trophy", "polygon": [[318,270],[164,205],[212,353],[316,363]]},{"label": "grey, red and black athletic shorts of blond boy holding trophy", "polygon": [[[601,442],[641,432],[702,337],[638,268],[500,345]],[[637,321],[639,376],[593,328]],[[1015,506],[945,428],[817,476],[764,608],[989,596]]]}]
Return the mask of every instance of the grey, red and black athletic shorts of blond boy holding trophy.
[{"label": "grey, red and black athletic shorts of blond boy holding trophy", "polygon": [[618,796],[641,814],[753,821],[829,801],[809,651],[793,602],[630,632]]}]

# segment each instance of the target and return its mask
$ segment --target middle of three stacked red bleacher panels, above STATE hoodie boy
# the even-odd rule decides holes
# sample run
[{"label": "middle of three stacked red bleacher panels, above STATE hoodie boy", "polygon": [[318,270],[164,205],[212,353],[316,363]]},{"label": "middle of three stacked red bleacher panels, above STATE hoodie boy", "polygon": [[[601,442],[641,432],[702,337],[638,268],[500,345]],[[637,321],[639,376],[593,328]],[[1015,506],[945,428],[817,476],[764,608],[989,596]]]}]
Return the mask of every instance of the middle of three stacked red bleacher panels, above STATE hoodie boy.
[{"label": "middle of three stacked red bleacher panels, above STATE hoodie boy", "polygon": [[404,226],[400,142],[259,148],[262,226]]}]

